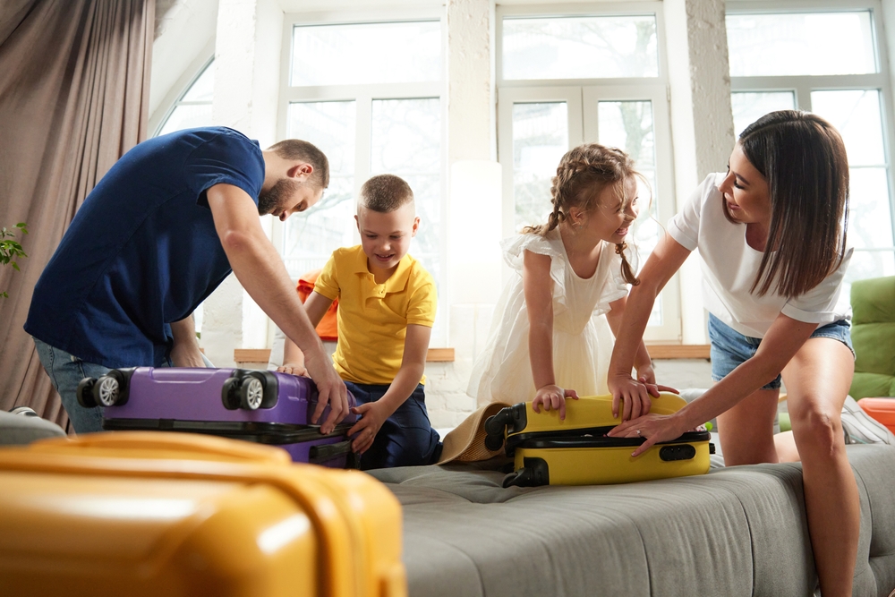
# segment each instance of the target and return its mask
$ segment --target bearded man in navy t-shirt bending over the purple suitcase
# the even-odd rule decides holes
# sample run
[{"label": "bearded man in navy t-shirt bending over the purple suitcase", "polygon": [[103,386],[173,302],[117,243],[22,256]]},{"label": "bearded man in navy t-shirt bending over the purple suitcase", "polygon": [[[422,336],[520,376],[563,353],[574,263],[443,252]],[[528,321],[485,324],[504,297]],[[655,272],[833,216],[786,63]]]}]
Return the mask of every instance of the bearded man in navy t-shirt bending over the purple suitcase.
[{"label": "bearded man in navy t-shirt bending over the purple suitcase", "polygon": [[223,127],[144,141],[84,200],[38,280],[25,330],[74,430],[100,431],[78,382],[133,366],[210,366],[192,311],[231,271],[252,299],[310,354],[328,433],[348,410],[345,383],[304,312],[260,216],[286,220],[320,200],[325,155],[307,141],[258,141]]}]

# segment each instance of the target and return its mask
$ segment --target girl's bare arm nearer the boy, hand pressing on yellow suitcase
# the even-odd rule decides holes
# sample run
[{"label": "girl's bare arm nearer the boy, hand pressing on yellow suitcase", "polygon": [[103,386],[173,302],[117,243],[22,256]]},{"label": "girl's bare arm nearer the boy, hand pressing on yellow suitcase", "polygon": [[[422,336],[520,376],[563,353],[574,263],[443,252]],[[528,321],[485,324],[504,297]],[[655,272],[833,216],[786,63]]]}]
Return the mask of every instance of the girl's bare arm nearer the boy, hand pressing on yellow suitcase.
[{"label": "girl's bare arm nearer the boy, hand pressing on yellow suitcase", "polygon": [[528,352],[537,394],[533,409],[540,412],[558,409],[559,418],[566,418],[565,397],[575,397],[575,390],[563,390],[556,385],[553,371],[553,279],[550,277],[550,257],[530,251],[524,252],[522,285],[525,307],[528,309]]}]

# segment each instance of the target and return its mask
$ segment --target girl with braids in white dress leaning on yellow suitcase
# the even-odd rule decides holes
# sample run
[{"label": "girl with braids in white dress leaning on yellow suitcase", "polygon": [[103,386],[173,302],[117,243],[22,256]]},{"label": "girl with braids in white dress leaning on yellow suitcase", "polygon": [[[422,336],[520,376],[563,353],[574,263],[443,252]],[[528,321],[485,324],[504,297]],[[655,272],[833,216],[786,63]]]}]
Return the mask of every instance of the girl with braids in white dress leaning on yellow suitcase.
[{"label": "girl with braids in white dress leaning on yellow suitcase", "polygon": [[[608,394],[612,332],[625,309],[626,285],[639,284],[625,242],[637,217],[638,176],[620,149],[576,147],[557,167],[547,224],[502,243],[515,275],[466,390],[479,405],[533,400],[536,412],[543,405],[565,418],[566,397]],[[658,395],[643,342],[635,369]],[[631,413],[625,405],[625,419],[641,413],[636,406]]]}]

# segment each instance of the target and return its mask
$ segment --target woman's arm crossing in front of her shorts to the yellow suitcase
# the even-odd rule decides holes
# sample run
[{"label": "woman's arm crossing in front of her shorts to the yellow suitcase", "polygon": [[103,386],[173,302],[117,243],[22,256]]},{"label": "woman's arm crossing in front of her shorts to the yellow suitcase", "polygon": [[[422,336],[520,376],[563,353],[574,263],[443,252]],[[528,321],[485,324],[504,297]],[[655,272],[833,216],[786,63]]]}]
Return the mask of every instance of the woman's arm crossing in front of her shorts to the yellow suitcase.
[{"label": "woman's arm crossing in front of her shorts to the yellow suitcase", "polygon": [[639,456],[656,442],[680,437],[685,431],[727,411],[777,377],[816,328],[816,323],[794,320],[780,313],[754,356],[741,363],[703,396],[675,414],[648,414],[637,421],[624,422],[609,431],[609,435],[631,437],[639,430],[638,435],[645,437],[646,441],[632,456]]}]

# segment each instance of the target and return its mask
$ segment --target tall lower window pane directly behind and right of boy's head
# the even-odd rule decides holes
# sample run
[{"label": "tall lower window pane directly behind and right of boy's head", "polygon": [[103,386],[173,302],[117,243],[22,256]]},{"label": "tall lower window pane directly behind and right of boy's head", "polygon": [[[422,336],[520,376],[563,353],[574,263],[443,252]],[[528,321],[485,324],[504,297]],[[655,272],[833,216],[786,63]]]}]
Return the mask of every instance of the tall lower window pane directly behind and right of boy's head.
[{"label": "tall lower window pane directly behind and right of boy's head", "polygon": [[438,98],[373,101],[371,175],[410,184],[420,228],[410,253],[439,283],[441,263],[441,107]]}]

